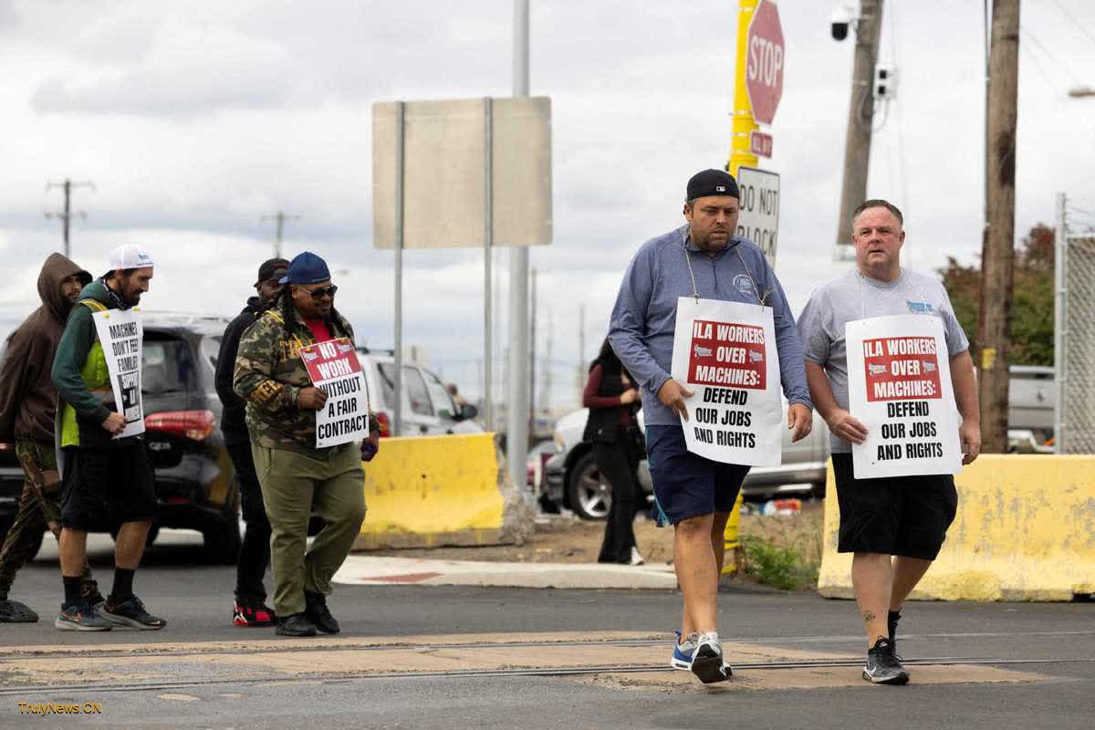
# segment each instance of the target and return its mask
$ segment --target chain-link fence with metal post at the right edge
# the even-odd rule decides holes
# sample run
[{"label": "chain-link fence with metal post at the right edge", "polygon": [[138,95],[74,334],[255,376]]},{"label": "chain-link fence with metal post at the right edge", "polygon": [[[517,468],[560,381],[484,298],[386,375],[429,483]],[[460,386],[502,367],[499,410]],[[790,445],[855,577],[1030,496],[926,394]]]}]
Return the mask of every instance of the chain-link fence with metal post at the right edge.
[{"label": "chain-link fence with metal post at the right edge", "polygon": [[1059,453],[1095,453],[1095,236],[1059,239],[1057,380]]}]

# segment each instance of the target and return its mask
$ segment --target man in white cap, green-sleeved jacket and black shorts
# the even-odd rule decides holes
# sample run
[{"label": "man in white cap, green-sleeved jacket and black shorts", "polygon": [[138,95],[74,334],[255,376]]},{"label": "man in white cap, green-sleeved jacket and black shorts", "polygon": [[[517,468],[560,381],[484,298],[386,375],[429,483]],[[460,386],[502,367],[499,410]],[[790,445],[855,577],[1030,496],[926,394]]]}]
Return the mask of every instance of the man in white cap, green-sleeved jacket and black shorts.
[{"label": "man in white cap, green-sleeved jacket and black shorts", "polygon": [[[153,263],[147,251],[125,244],[111,252],[111,270],[84,287],[69,314],[54,358],[53,380],[60,397],[57,440],[64,459],[60,564],[65,602],[54,624],[78,631],[112,626],[163,628],[132,591],[134,573],[155,517],[152,467],[141,436],[114,438],[126,427],[100,343],[93,314],[128,310],[148,291]],[[107,505],[119,524],[115,542],[114,587],[97,611],[80,595],[88,531]]]}]

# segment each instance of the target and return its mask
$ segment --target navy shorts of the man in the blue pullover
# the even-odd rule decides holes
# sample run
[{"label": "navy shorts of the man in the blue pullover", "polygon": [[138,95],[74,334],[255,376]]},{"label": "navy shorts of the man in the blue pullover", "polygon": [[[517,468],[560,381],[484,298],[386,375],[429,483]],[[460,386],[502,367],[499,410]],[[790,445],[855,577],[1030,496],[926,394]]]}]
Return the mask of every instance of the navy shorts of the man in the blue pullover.
[{"label": "navy shorts of the man in the blue pullover", "polygon": [[748,466],[724,464],[688,450],[680,426],[647,426],[646,453],[654,496],[669,524],[714,512],[730,512]]}]

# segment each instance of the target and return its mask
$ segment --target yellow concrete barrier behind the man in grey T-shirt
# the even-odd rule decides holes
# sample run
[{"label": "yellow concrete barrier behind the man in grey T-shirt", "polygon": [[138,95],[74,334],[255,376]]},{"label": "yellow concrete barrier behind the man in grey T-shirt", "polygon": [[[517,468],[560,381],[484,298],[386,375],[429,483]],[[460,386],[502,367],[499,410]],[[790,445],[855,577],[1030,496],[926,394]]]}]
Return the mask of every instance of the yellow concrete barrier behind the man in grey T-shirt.
[{"label": "yellow concrete barrier behind the man in grey T-shirt", "polygon": [[[1095,456],[989,454],[955,477],[958,514],[913,599],[1069,601],[1095,593]],[[818,592],[851,598],[832,464]]]}]

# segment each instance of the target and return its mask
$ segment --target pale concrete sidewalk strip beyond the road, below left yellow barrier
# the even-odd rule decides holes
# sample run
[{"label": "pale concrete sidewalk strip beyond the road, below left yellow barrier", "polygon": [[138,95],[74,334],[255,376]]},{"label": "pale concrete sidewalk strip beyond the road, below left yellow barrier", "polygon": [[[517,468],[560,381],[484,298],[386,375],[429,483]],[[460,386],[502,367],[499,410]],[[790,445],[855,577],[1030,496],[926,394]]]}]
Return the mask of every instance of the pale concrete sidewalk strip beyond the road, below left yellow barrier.
[{"label": "pale concrete sidewalk strip beyond the road, below left yellow barrier", "polygon": [[493,563],[350,555],[336,583],[354,586],[483,586],[506,588],[677,588],[668,565]]}]

